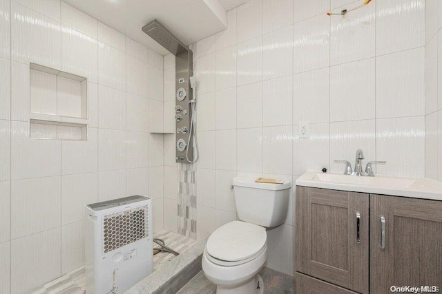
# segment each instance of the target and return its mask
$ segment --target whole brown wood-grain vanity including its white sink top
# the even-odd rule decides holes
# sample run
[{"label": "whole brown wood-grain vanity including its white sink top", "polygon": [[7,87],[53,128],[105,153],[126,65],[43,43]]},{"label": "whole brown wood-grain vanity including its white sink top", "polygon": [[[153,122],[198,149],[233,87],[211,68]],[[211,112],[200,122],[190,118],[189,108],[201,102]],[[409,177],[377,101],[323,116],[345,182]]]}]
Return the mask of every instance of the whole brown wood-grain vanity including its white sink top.
[{"label": "whole brown wood-grain vanity including its white sink top", "polygon": [[307,171],[296,186],[296,293],[442,291],[442,183]]}]

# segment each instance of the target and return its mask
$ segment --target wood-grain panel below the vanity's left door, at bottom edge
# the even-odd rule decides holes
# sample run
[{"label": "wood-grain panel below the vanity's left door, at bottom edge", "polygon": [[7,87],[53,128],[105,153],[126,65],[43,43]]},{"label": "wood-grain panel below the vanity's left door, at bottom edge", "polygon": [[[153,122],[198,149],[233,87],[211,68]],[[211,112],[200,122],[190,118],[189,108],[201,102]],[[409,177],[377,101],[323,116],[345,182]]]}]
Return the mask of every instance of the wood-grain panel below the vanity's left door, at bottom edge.
[{"label": "wood-grain panel below the vanity's left door, at bottom edge", "polygon": [[329,284],[327,282],[303,275],[302,273],[295,273],[295,293],[300,294],[356,294],[356,292],[349,291],[340,286]]}]

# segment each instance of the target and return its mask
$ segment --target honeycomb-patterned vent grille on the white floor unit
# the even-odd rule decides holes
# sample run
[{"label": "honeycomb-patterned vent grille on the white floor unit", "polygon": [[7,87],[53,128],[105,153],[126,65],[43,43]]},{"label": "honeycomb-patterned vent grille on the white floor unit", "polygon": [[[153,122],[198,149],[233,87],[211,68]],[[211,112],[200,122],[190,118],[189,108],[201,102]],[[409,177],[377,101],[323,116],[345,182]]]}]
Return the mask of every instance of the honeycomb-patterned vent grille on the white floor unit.
[{"label": "honeycomb-patterned vent grille on the white floor unit", "polygon": [[108,253],[148,237],[147,206],[103,216],[103,251]]}]

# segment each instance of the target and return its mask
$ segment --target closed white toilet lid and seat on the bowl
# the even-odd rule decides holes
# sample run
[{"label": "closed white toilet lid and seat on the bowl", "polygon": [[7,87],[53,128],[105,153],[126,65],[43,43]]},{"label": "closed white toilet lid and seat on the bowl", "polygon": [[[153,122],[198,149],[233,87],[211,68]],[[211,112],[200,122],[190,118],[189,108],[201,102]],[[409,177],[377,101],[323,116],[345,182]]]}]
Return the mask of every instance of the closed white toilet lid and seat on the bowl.
[{"label": "closed white toilet lid and seat on the bowl", "polygon": [[214,231],[206,243],[206,257],[221,266],[236,266],[255,259],[267,248],[265,228],[238,220]]}]

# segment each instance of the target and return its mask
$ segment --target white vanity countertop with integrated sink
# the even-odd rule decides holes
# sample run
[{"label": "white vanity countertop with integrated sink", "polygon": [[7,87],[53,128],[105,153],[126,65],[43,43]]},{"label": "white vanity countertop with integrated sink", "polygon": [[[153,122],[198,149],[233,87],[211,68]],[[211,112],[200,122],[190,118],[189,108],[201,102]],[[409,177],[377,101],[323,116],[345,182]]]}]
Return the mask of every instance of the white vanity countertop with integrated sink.
[{"label": "white vanity countertop with integrated sink", "polygon": [[442,200],[442,182],[427,178],[394,176],[349,176],[306,171],[296,180],[297,186],[353,191],[390,196]]}]

